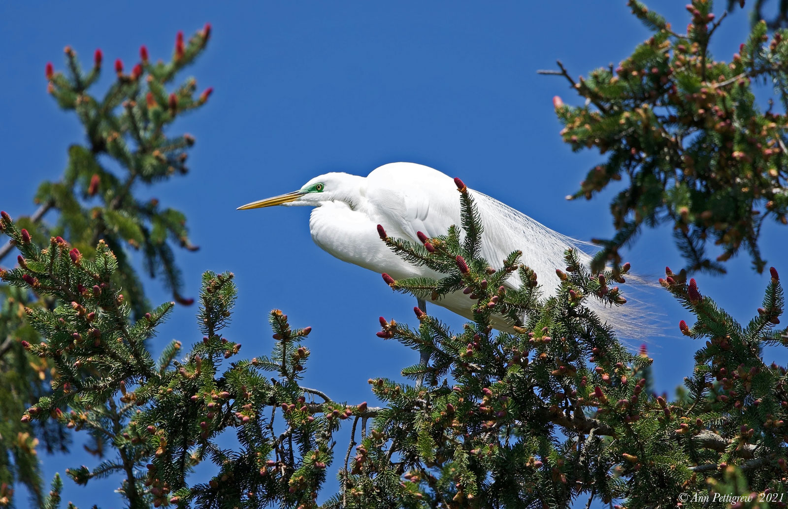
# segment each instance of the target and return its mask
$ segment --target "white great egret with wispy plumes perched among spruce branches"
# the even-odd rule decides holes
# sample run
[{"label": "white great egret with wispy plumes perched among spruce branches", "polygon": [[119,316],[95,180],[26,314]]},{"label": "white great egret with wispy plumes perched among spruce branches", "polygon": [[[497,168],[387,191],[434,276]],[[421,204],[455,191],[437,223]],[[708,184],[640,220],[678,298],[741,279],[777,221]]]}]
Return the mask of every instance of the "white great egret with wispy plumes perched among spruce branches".
[{"label": "white great egret with wispy plumes perched among spruce branches", "polygon": [[[567,247],[577,247],[582,261],[589,262],[590,256],[580,249],[587,244],[561,235],[496,199],[478,191],[468,191],[485,228],[481,236],[481,255],[492,268],[500,268],[507,255],[520,250],[522,262],[541,277],[545,294],[551,296],[556,285],[548,277],[563,267],[563,253]],[[427,237],[439,236],[444,235],[449,226],[460,224],[459,197],[452,177],[411,162],[382,165],[366,177],[325,173],[314,177],[298,191],[247,203],[238,210],[273,205],[313,206],[309,230],[318,247],[340,260],[377,273],[388,273],[394,279],[439,278],[441,275],[424,266],[412,266],[394,254],[378,238],[377,225],[382,225],[389,236],[419,242],[418,232]],[[507,284],[519,287],[517,273],[512,273]],[[462,292],[435,301],[439,306],[473,319],[471,302]],[[589,299],[587,304],[603,320],[611,314],[611,308],[598,301]],[[422,302],[419,307],[424,309]],[[631,318],[632,314],[629,315]],[[623,318],[621,314],[619,318]],[[493,325],[496,329],[511,330],[511,325],[503,318],[494,321]],[[634,327],[630,331],[632,329]]]}]

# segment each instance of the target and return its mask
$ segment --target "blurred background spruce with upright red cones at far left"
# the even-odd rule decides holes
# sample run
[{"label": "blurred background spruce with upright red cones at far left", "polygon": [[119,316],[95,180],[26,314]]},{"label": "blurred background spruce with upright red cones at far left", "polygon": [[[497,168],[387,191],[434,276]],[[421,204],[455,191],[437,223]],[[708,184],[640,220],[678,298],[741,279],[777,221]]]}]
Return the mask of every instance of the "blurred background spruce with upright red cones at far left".
[{"label": "blurred background spruce with upright red cones at far left", "polygon": [[[188,149],[195,139],[171,133],[170,124],[203,106],[211,89],[195,95],[194,78],[182,84],[174,80],[199,56],[209,37],[207,24],[188,40],[179,33],[173,56],[166,62],[151,61],[147,48],[141,46],[140,60],[130,69],[121,60],[114,61],[110,72],[117,79],[102,95],[91,92],[106,67],[102,50],[95,50],[92,61],[84,64],[66,46],[62,71],[46,64],[47,91],[61,109],[76,113],[85,143],[69,147],[68,165],[60,180],[39,186],[38,209],[20,217],[19,224],[36,242],[68,237],[74,252],[84,259],[95,258],[99,240],[111,247],[117,257],[113,281],[123,286],[126,302],[138,318],[148,306],[140,273],[159,278],[177,302],[191,303],[181,295],[183,281],[173,250],[197,249],[188,240],[184,214],[158,200],[139,199],[135,191],[140,185],[188,173]],[[115,165],[121,171],[113,170]],[[13,245],[2,245],[0,261],[10,262],[13,251]],[[143,271],[133,266],[129,251],[143,254]],[[18,258],[18,263],[24,260]],[[24,484],[33,502],[40,505],[43,489],[36,446],[40,442],[47,451],[67,451],[69,434],[55,421],[20,422],[20,412],[46,396],[57,376],[50,359],[30,355],[21,342],[38,344],[41,340],[24,309],[52,309],[55,301],[38,288],[7,284],[0,284],[0,295],[0,507],[13,500],[16,482]],[[94,449],[99,451],[106,437],[97,435],[95,440]]]}]

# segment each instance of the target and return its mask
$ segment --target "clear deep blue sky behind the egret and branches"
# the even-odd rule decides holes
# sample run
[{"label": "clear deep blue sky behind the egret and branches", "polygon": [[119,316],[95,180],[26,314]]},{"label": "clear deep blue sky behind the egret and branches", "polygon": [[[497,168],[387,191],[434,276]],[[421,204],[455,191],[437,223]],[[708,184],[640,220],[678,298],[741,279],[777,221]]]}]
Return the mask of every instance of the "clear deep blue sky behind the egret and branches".
[{"label": "clear deep blue sky behind the egret and branches", "polygon": [[[661,3],[652,7],[675,27],[687,23],[683,2]],[[418,359],[375,336],[381,314],[415,321],[413,299],[316,247],[307,208],[235,210],[321,173],[366,175],[387,162],[418,162],[567,235],[611,234],[611,193],[591,202],[563,199],[601,158],[573,154],[561,142],[552,96],[577,100],[562,79],[536,71],[554,69],[559,58],[575,75],[587,75],[628,56],[649,34],[623,1],[3,2],[0,208],[12,216],[32,213],[39,181],[57,180],[69,144],[83,142],[76,117],[46,95],[46,61],[62,68],[69,44],[89,62],[100,47],[106,84],[115,58],[130,69],[141,44],[152,59],[169,58],[176,32],[191,33],[206,21],[214,27],[210,45],[184,76],[195,76],[199,89],[214,87],[214,95],[174,131],[197,139],[191,173],[136,192],[188,217],[191,239],[202,249],[177,255],[186,295],[196,295],[203,270],[236,273],[240,296],[226,335],[243,343],[242,355],[268,353],[266,314],[277,307],[292,324],[313,327],[305,385],[335,399],[371,402],[367,378],[396,377]],[[738,50],[747,25],[742,13],[723,24],[714,48],[721,58]],[[768,225],[762,238],[764,256],[788,273],[786,229]],[[665,265],[682,266],[666,228],[645,232],[626,258],[655,278]],[[768,278],[753,273],[746,257],[727,268],[726,277],[701,276],[701,292],[749,319]],[[554,283],[547,274],[541,281]],[[170,299],[157,281],[146,288],[154,303]],[[667,292],[657,289],[649,300],[668,325],[649,345],[656,387],[672,393],[691,372],[699,345],[678,335],[676,324],[687,314]],[[462,323],[436,307],[429,312]],[[179,307],[152,340],[154,350],[173,338],[199,340],[194,314],[194,307]],[[95,464],[80,437],[69,457],[42,459],[46,478]],[[111,492],[115,479],[91,481],[87,489],[65,484],[65,500],[82,507],[123,506]]]}]

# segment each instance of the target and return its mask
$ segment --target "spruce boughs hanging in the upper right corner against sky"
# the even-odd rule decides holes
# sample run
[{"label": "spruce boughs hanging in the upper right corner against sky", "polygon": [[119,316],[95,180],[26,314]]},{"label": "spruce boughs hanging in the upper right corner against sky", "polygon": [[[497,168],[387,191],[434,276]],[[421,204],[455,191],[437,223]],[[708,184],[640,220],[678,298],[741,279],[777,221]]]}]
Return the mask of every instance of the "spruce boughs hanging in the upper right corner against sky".
[{"label": "spruce boughs hanging in the upper right corner against sky", "polygon": [[[629,58],[587,79],[575,80],[560,61],[559,71],[545,72],[563,76],[584,101],[554,99],[564,141],[607,158],[567,198],[591,199],[611,182],[627,184],[611,201],[617,232],[597,240],[594,267],[619,261],[619,249],[643,228],[667,223],[687,269],[724,273],[723,262],[743,248],[761,272],[760,228],[788,224],[788,116],[771,100],[762,110],[753,82],[773,84],[775,99],[788,106],[788,32],[770,37],[760,21],[730,61],[716,60],[709,41],[726,16],[716,18],[711,1],[687,5],[684,34],[641,2],[628,5],[653,32]],[[713,258],[709,241],[722,247]]]}]

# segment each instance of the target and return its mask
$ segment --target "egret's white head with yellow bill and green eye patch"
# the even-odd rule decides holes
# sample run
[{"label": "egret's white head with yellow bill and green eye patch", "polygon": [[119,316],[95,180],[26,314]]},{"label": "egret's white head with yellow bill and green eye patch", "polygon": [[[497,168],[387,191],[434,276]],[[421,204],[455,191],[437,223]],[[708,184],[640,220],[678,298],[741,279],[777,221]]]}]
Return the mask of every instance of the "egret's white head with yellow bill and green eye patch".
[{"label": "egret's white head with yellow bill and green eye patch", "polygon": [[237,210],[259,209],[264,206],[321,206],[325,202],[347,202],[351,207],[360,195],[359,184],[363,177],[348,173],[325,173],[311,179],[298,191],[273,198],[260,199],[238,207]]}]

